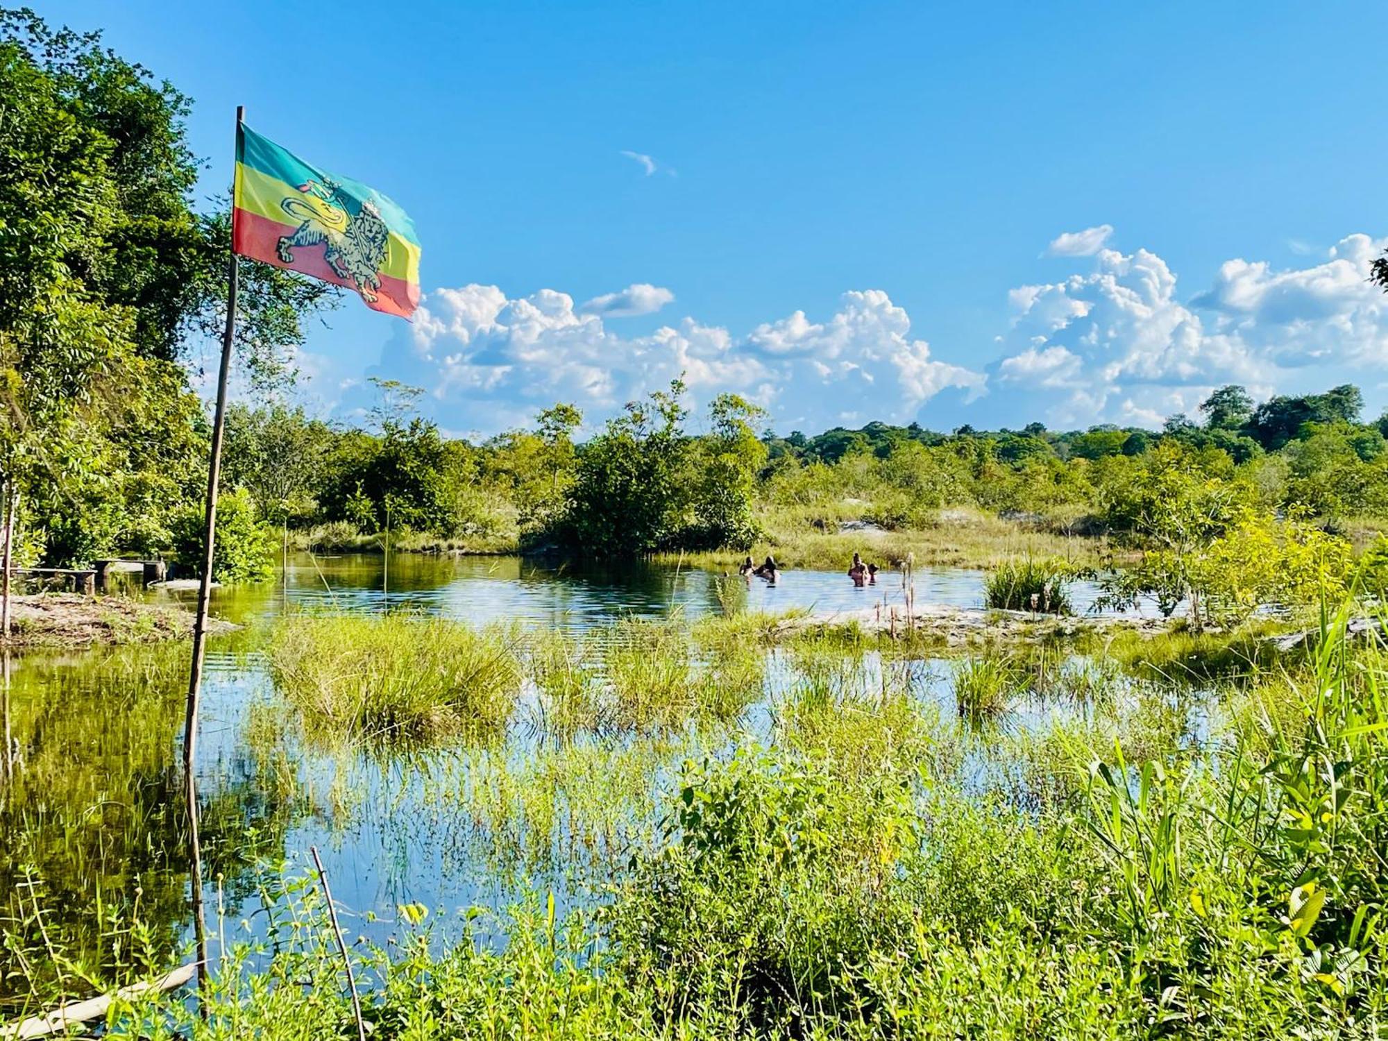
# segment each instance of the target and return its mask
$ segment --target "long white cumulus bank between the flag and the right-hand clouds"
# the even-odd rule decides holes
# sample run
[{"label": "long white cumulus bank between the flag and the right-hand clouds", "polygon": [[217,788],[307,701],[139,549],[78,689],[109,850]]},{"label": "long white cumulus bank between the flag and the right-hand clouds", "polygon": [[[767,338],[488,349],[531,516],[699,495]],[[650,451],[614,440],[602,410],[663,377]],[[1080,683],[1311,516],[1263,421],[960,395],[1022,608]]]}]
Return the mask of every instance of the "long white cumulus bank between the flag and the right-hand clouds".
[{"label": "long white cumulus bank between the flag and the right-hand clouds", "polygon": [[[984,387],[983,373],[934,358],[912,337],[905,310],[881,290],[845,293],[823,322],[797,311],[741,337],[694,318],[647,336],[605,323],[644,314],[627,308],[659,293],[668,290],[632,286],[611,303],[575,307],[550,289],[518,298],[497,286],[434,290],[400,333],[408,348],[387,346],[382,369],[426,387],[446,428],[479,433],[525,425],[554,401],[573,401],[598,422],[682,373],[697,404],[736,391],[784,426],[858,414],[911,422],[945,389],[974,396]],[[619,303],[626,294],[633,300]]]}]

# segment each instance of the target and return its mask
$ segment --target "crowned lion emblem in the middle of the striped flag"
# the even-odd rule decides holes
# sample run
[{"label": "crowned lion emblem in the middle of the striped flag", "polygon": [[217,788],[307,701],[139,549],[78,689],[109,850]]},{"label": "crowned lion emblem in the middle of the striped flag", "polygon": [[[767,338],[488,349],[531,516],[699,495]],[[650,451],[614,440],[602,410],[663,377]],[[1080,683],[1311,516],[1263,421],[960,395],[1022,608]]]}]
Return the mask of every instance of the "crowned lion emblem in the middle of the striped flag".
[{"label": "crowned lion emblem in the middle of the striped flag", "polygon": [[376,303],[380,289],[380,268],[390,253],[390,229],[380,219],[380,211],[366,200],[353,217],[343,201],[341,189],[332,180],[310,180],[300,185],[300,197],[286,198],[280,207],[296,221],[293,235],[280,236],[275,253],[285,264],[294,262],[294,250],[303,246],[322,246],[323,260],[339,278],[357,286],[361,298]]}]

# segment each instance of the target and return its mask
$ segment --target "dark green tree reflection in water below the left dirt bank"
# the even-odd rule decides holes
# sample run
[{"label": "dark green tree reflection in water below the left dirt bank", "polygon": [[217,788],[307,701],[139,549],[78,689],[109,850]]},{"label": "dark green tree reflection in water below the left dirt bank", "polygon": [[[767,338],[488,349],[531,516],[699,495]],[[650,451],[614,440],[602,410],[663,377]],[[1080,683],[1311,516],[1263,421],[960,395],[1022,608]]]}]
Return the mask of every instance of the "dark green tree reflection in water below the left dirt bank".
[{"label": "dark green tree reflection in water below the left dirt bank", "polygon": [[[0,1009],[86,997],[167,969],[189,920],[189,840],[178,740],[186,648],[25,659],[0,781]],[[236,898],[278,858],[294,813],[254,761],[201,783],[204,870]],[[0,1015],[3,1017],[3,1015]]]}]

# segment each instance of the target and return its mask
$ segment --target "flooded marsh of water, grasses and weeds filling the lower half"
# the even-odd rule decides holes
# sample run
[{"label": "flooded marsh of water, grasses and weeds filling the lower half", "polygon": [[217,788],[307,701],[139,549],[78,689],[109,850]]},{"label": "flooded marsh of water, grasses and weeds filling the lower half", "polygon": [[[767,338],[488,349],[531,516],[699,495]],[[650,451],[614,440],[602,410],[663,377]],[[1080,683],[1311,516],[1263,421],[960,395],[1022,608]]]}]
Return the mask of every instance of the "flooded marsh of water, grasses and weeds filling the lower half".
[{"label": "flooded marsh of water, grasses and weeds filling the lower half", "polygon": [[[788,576],[811,602],[769,612],[705,572],[489,566],[421,561],[387,595],[344,558],[221,600],[246,629],[214,641],[200,743],[208,1017],[165,999],[111,1035],[351,1034],[311,845],[375,1037],[1382,1015],[1373,640],[942,647],[801,625],[874,609],[843,576]],[[917,580],[981,602],[981,576]],[[187,956],[186,666],[180,643],[11,662],[7,1017]]]}]

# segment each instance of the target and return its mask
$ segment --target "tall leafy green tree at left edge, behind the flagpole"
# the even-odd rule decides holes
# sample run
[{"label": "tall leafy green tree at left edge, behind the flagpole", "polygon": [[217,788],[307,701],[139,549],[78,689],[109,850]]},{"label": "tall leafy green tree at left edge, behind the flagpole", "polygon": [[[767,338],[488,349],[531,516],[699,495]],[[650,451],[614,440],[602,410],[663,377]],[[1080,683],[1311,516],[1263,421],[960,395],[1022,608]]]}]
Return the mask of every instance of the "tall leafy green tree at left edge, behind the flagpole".
[{"label": "tall leafy green tree at left edge, behind the flagpole", "polygon": [[[187,100],[28,10],[0,11],[0,484],[54,562],[165,548],[205,458],[176,362],[219,335],[229,269],[225,210],[192,205]],[[332,290],[254,266],[239,341],[275,358]]]}]

